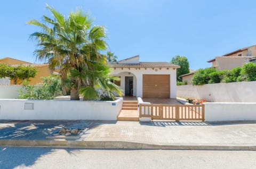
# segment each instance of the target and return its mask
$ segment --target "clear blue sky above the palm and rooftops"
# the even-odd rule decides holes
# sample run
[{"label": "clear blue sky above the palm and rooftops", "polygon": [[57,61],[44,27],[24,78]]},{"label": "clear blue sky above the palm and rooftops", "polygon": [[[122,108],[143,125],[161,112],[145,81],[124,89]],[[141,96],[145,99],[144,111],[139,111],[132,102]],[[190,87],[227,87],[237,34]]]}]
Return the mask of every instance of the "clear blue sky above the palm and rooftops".
[{"label": "clear blue sky above the palm and rooftops", "polygon": [[109,50],[119,60],[140,55],[141,61],[170,62],[182,55],[199,69],[215,56],[256,44],[256,1],[9,0],[0,5],[0,58],[35,62],[29,35],[38,29],[26,22],[50,15],[46,4],[65,15],[77,7],[89,11],[107,28]]}]

